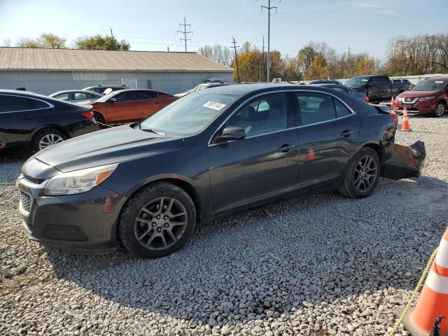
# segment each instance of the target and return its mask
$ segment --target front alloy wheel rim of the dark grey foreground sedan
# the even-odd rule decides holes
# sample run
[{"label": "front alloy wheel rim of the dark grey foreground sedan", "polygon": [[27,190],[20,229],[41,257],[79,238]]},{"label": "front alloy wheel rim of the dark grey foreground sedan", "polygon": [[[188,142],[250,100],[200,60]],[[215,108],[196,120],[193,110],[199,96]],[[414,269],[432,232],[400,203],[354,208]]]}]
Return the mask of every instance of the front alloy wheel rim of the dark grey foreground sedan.
[{"label": "front alloy wheel rim of the dark grey foreground sedan", "polygon": [[172,197],[159,197],[141,207],[134,224],[135,237],[150,250],[176,244],[188,223],[186,208]]}]

